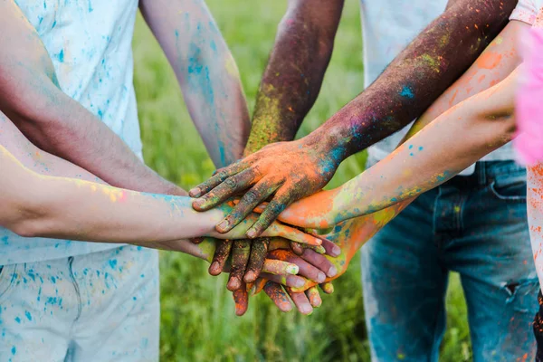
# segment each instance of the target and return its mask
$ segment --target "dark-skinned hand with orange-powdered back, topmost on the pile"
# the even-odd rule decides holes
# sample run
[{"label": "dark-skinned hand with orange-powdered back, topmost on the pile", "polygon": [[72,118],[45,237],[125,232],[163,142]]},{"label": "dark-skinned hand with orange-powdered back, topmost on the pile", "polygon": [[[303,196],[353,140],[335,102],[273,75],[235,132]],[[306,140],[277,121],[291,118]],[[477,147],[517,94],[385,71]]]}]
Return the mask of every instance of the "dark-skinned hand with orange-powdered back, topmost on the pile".
[{"label": "dark-skinned hand with orange-powdered back, topmost on the pile", "polygon": [[239,204],[217,225],[218,232],[226,233],[271,196],[258,221],[247,231],[248,237],[257,237],[292,202],[314,194],[328,184],[340,159],[323,144],[301,138],[266,146],[224,167],[190,190],[192,197],[198,197],[193,207],[199,211],[209,210],[243,192]]}]

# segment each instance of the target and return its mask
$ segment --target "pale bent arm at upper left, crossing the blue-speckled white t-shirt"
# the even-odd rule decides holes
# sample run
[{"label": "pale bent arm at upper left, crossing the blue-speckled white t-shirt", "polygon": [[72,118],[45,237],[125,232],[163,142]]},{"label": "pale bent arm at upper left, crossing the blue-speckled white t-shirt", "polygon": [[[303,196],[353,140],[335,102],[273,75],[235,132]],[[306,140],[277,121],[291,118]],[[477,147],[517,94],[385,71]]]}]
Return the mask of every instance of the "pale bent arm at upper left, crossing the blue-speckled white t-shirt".
[{"label": "pale bent arm at upper left, crossing the blue-speckled white t-shirt", "polygon": [[[59,88],[51,58],[13,0],[0,0],[0,108],[35,145],[110,185],[186,195]],[[107,152],[104,152],[107,150]]]}]

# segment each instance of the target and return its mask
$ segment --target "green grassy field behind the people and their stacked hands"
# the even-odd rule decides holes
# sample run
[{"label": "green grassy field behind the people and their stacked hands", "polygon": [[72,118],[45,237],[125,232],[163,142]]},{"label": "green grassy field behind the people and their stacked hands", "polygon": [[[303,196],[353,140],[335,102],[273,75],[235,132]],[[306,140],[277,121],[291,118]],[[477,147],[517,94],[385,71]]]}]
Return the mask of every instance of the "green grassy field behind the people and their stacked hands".
[{"label": "green grassy field behind the people and their stacked hands", "polygon": [[[286,2],[207,0],[240,68],[252,109],[262,71]],[[359,8],[348,0],[319,100],[305,120],[307,134],[362,90]],[[134,40],[135,84],[148,165],[184,187],[214,169],[192,125],[176,79],[145,24],[138,18]],[[364,169],[364,154],[348,159],[332,183]],[[251,300],[243,318],[233,313],[224,276],[207,275],[207,264],[186,255],[163,253],[162,329],[164,361],[368,361],[360,268],[356,258],[311,316],[281,314],[265,295]],[[471,360],[466,307],[458,278],[447,296],[448,329],[443,361]]]}]

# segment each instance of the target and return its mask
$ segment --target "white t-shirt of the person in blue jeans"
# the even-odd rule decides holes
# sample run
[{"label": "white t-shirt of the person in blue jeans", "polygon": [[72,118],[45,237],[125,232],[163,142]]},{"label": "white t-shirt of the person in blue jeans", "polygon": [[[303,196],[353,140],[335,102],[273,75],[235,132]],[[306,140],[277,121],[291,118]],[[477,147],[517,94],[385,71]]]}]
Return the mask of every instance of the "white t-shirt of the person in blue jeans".
[{"label": "white t-shirt of the person in blue jeans", "polygon": [[[369,86],[424,28],[442,14],[447,0],[361,0],[362,34],[364,38],[364,83]],[[412,123],[413,124],[413,123]],[[368,148],[368,167],[391,153],[404,138],[409,124],[394,135]],[[513,159],[510,144],[482,160]],[[469,167],[462,175],[471,174]]]}]

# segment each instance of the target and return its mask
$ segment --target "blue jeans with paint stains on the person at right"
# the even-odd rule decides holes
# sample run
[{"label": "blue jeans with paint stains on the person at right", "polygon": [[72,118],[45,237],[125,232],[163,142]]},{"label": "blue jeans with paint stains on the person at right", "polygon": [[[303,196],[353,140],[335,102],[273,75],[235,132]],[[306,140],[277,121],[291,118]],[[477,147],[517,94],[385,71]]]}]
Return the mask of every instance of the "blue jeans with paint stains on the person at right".
[{"label": "blue jeans with paint stains on the person at right", "polygon": [[460,273],[474,361],[534,360],[539,285],[526,171],[513,161],[479,162],[418,197],[362,248],[362,268],[373,361],[438,359],[449,271]]}]

